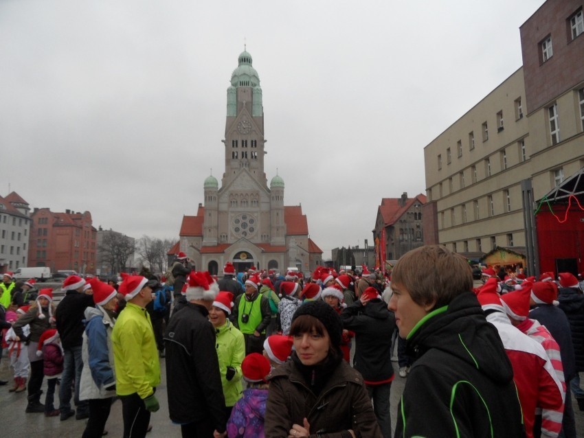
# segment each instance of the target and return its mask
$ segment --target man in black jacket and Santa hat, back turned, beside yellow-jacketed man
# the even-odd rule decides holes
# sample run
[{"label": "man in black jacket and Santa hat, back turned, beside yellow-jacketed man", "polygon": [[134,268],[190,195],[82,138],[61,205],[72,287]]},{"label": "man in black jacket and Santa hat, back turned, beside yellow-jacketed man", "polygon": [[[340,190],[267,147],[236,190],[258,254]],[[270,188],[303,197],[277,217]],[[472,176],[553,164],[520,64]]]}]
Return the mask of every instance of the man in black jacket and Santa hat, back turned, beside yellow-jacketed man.
[{"label": "man in black jacket and Santa hat, back turned, beside yellow-jacketed man", "polygon": [[217,292],[203,273],[191,273],[188,302],[164,335],[168,413],[183,437],[212,437],[227,424],[216,334],[207,318]]}]

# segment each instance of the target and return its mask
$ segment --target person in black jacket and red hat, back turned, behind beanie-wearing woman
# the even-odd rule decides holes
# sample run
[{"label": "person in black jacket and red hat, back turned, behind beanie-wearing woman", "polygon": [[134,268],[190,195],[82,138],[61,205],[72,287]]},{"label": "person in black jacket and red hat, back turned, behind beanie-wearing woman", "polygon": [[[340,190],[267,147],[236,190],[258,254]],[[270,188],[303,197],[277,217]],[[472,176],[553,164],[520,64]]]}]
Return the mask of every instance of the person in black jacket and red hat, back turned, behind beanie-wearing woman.
[{"label": "person in black jacket and red hat, back turned, behind beanie-wearing woman", "polygon": [[353,367],[361,373],[383,438],[392,437],[390,393],[394,380],[392,336],[395,316],[374,287],[366,288],[355,303],[341,312],[343,327],[355,332]]}]

